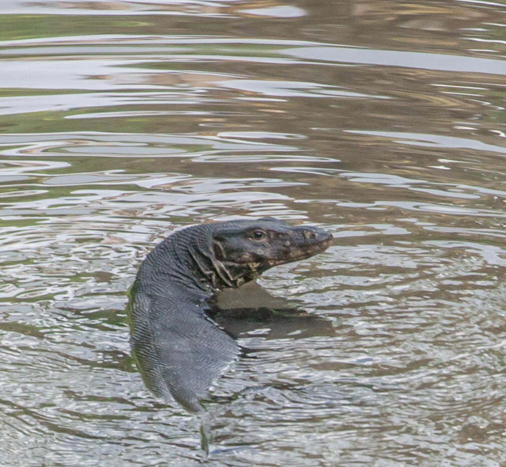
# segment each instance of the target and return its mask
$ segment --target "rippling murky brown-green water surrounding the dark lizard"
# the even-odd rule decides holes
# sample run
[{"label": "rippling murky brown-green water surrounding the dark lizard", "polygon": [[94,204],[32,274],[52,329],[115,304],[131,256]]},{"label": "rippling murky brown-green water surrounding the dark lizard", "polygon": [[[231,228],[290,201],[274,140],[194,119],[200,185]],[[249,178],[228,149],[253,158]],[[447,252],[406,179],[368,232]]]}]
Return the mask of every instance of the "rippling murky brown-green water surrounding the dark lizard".
[{"label": "rippling murky brown-green water surrounding the dark lizard", "polygon": [[[0,464],[506,464],[502,2],[0,21]],[[229,323],[250,352],[205,459],[142,383],[126,291],[173,229],[266,215],[336,240],[259,281],[310,317]]]}]

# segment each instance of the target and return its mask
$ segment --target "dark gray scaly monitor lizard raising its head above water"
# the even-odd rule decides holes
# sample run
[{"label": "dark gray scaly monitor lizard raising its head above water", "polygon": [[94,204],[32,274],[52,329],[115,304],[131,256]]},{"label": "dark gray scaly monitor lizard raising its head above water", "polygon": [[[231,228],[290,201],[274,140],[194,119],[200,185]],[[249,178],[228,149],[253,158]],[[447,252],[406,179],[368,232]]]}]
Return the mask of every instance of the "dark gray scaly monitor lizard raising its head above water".
[{"label": "dark gray scaly monitor lizard raising its head above water", "polygon": [[209,386],[239,353],[206,314],[223,288],[239,287],[278,264],[324,251],[332,235],[265,217],[195,225],[158,244],[131,289],[131,345],[146,386],[201,410]]}]

